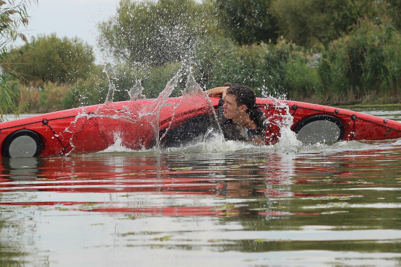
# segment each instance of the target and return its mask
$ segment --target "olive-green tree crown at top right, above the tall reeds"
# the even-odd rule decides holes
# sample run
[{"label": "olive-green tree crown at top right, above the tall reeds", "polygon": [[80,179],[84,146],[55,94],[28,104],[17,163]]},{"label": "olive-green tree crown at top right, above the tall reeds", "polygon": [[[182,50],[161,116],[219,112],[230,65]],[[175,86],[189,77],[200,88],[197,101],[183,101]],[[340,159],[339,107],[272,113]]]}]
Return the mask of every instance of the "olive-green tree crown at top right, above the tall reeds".
[{"label": "olive-green tree crown at top right, above the tall reeds", "polygon": [[274,0],[271,9],[287,39],[309,46],[317,40],[326,48],[358,18],[375,18],[381,10],[371,0]]}]

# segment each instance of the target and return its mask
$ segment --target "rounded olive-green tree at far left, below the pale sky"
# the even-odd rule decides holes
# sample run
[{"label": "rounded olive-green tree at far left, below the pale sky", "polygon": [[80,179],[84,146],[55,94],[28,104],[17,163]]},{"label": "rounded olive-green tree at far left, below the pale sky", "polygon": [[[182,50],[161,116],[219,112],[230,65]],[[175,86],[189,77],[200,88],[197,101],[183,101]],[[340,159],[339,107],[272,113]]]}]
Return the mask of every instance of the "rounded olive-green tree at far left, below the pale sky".
[{"label": "rounded olive-green tree at far left, below the pale sky", "polygon": [[79,38],[60,39],[56,34],[32,37],[32,41],[12,49],[4,69],[15,69],[24,82],[74,83],[86,79],[93,68],[95,57],[92,47]]}]

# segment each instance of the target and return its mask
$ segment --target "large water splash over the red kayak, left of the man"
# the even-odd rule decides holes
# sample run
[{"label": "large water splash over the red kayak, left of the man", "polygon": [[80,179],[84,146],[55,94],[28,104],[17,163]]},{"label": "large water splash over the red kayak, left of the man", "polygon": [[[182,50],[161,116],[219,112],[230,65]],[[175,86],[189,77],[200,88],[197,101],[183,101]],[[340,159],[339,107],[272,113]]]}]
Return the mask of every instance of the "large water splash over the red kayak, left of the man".
[{"label": "large water splash over the red kayak, left of the man", "polygon": [[[181,91],[182,97],[166,102],[185,75],[187,81]],[[117,152],[121,149],[160,152],[161,147],[187,143],[206,146],[209,139],[225,142],[211,100],[196,83],[190,69],[180,69],[157,99],[146,99],[143,89],[141,82],[137,81],[128,92],[130,101],[122,105],[120,102],[113,103],[115,86],[110,83],[105,104],[95,112],[88,113],[83,108],[66,129],[72,134],[69,140],[73,148],[71,151],[82,154],[115,148]],[[101,142],[93,144],[93,139]],[[85,148],[88,142],[91,145]]]}]

